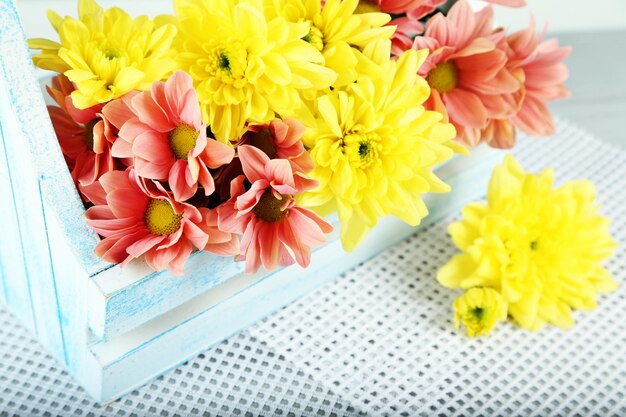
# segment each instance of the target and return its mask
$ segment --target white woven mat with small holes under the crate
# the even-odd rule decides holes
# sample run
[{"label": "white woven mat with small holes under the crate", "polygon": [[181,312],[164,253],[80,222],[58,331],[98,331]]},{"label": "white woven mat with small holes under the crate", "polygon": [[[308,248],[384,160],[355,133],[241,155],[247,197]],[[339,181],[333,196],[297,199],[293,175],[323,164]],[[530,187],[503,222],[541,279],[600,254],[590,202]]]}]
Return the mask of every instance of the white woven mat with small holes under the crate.
[{"label": "white woven mat with small holes under the crate", "polygon": [[[608,267],[623,283],[626,154],[563,122],[513,153],[527,170],[553,166],[559,182],[595,181],[621,242]],[[626,285],[570,331],[507,323],[469,339],[453,328],[458,294],[435,281],[457,218],[105,408],[0,309],[0,415],[625,416]]]}]

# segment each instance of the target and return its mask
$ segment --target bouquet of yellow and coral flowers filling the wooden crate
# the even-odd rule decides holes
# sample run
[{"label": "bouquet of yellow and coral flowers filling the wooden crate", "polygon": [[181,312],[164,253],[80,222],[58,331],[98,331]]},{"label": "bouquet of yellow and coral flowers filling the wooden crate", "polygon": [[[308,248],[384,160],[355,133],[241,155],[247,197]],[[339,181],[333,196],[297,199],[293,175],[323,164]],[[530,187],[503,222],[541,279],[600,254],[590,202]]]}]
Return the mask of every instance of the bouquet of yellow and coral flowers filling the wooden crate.
[{"label": "bouquet of yellow and coral flowers filling the wooden crate", "polygon": [[[523,0],[493,0],[523,5]],[[381,217],[417,225],[433,168],[553,131],[568,48],[506,34],[464,0],[174,0],[132,18],[79,0],[31,39],[58,73],[49,113],[103,259],[184,273],[194,250],[246,271],[297,262],[337,212],[354,249]]]}]

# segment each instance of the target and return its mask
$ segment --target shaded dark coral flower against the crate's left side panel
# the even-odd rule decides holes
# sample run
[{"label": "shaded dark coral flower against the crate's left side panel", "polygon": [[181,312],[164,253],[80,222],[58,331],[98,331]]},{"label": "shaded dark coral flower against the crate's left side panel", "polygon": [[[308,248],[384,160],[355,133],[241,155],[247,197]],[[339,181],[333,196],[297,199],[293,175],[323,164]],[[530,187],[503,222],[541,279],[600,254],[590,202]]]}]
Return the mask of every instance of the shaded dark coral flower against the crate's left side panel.
[{"label": "shaded dark coral flower against the crate's left side panel", "polygon": [[101,114],[102,105],[78,110],[72,104],[72,83],[64,76],[52,79],[48,93],[60,107],[48,106],[48,113],[65,161],[81,195],[83,187],[116,169],[111,146],[117,139],[113,126]]}]

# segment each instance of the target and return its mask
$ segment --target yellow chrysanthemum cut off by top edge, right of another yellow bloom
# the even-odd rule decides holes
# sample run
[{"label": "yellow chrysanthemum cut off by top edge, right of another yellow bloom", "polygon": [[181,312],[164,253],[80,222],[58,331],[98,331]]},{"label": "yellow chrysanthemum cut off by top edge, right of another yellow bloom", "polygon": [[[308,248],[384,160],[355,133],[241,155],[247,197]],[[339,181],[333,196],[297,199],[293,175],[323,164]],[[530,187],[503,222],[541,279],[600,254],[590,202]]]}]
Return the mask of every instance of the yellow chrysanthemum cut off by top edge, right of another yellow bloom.
[{"label": "yellow chrysanthemum cut off by top edge, right of another yellow bloom", "polygon": [[359,0],[263,0],[268,17],[282,16],[290,22],[305,22],[304,39],[324,54],[326,67],[338,74],[333,87],[354,82],[357,75],[375,77],[378,67],[361,53],[372,42],[391,39],[395,26],[385,26],[386,13],[356,14]]}]

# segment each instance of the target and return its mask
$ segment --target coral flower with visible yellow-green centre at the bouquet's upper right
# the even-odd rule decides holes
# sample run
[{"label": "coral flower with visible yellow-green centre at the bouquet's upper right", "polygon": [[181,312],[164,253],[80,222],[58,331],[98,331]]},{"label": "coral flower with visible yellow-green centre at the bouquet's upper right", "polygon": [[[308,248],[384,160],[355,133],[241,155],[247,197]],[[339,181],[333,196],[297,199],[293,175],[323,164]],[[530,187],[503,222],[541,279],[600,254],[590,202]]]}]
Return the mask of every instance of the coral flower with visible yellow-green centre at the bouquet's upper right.
[{"label": "coral flower with visible yellow-green centre at the bouquet's upper right", "polygon": [[489,119],[511,117],[518,110],[512,95],[522,82],[507,68],[507,54],[498,47],[504,33],[493,33],[492,27],[490,6],[474,13],[462,0],[447,16],[430,19],[413,45],[430,52],[420,68],[432,87],[426,107],[447,115],[459,139],[470,146],[481,141]]}]

